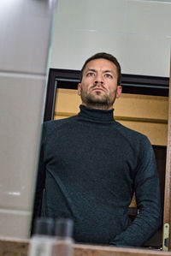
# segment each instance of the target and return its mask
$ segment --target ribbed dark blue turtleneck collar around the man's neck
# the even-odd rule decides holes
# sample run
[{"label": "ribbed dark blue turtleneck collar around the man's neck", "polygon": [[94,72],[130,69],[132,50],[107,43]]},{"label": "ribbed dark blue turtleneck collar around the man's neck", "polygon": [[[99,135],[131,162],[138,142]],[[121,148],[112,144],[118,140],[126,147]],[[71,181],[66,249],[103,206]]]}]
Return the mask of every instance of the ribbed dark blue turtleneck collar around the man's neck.
[{"label": "ribbed dark blue turtleneck collar around the man's neck", "polygon": [[80,105],[80,113],[79,116],[83,116],[85,118],[101,121],[101,122],[111,122],[115,121],[114,119],[114,109],[112,110],[97,110],[90,109],[85,107],[85,105]]}]

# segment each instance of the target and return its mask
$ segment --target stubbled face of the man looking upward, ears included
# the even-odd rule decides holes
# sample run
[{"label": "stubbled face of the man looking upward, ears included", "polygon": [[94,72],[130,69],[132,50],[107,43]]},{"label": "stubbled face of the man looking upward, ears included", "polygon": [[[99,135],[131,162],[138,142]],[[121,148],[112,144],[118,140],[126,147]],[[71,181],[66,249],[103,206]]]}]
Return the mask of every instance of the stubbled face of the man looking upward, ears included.
[{"label": "stubbled face of the man looking upward, ears included", "polygon": [[78,86],[82,104],[90,108],[112,109],[115,98],[121,95],[117,76],[115,64],[106,59],[99,58],[87,63]]}]

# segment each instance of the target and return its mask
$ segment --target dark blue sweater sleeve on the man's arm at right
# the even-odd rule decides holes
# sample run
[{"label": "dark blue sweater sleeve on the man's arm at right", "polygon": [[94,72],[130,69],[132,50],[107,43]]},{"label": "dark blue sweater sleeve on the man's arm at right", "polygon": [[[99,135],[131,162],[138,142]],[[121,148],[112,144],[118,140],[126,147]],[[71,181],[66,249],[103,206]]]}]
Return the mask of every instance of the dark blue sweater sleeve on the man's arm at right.
[{"label": "dark blue sweater sleeve on the man's arm at right", "polygon": [[142,246],[162,225],[162,204],[156,158],[150,141],[145,139],[140,146],[141,153],[134,177],[134,191],[139,214],[126,230],[115,236],[115,239],[110,242],[111,245]]}]

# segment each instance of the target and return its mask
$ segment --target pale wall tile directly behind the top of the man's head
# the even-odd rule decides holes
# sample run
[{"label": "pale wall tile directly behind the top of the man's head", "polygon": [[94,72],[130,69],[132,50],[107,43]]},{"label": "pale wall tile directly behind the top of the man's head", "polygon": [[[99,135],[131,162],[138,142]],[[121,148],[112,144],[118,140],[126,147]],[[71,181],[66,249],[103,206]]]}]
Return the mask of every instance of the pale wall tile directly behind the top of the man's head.
[{"label": "pale wall tile directly behind the top of the man's head", "polygon": [[109,38],[109,32],[103,32],[103,36],[98,31],[83,30],[56,33],[58,40],[52,48],[51,67],[80,69],[86,58],[104,50],[122,60],[125,35],[115,33],[115,37]]}]

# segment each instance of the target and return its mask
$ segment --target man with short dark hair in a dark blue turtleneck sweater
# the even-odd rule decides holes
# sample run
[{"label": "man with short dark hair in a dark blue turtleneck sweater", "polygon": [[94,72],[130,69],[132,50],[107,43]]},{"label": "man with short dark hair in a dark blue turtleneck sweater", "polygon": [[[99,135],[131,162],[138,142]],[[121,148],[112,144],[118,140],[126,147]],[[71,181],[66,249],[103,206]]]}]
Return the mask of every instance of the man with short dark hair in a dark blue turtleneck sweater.
[{"label": "man with short dark hair in a dark blue turtleneck sweater", "polygon": [[[113,104],[121,95],[115,57],[97,53],[80,77],[80,113],[44,123],[42,214],[73,219],[76,242],[142,246],[162,223],[150,141],[115,122]],[[127,209],[134,192],[139,214],[131,222]]]}]

